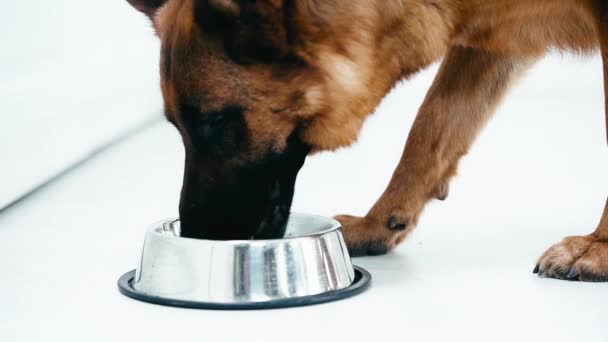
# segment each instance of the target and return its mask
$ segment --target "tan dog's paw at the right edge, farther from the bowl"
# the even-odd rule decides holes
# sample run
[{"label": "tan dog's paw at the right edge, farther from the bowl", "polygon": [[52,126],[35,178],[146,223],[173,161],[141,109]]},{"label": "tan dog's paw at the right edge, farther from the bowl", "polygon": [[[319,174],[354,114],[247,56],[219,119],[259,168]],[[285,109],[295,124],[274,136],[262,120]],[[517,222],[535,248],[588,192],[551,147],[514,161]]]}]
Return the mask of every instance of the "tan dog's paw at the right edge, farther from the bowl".
[{"label": "tan dog's paw at the right edge, farther from the bowl", "polygon": [[608,242],[592,236],[572,236],[549,248],[534,273],[540,277],[608,281]]}]

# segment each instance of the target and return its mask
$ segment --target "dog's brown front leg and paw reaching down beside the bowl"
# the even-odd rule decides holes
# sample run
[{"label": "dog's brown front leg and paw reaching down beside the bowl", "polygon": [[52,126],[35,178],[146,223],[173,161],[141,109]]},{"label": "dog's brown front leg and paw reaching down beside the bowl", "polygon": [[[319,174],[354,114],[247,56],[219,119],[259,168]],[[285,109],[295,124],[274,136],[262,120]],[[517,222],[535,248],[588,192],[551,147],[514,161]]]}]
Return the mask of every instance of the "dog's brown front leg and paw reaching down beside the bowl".
[{"label": "dog's brown front leg and paw reaching down beside the bowl", "polygon": [[410,131],[393,177],[365,217],[337,216],[351,255],[384,254],[415,227],[425,204],[447,196],[458,160],[511,81],[531,64],[464,47],[452,48]]}]

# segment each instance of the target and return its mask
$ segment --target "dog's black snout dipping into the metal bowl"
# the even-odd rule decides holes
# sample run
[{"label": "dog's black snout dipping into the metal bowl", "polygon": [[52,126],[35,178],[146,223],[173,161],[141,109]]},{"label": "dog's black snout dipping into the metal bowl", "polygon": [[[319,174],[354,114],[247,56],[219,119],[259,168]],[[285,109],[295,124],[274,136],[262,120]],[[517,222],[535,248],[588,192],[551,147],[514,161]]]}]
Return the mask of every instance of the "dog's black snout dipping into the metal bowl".
[{"label": "dog's black snout dipping into the metal bowl", "polygon": [[186,158],[180,200],[182,236],[276,239],[285,234],[298,171],[310,147],[293,135],[282,152],[238,166]]}]

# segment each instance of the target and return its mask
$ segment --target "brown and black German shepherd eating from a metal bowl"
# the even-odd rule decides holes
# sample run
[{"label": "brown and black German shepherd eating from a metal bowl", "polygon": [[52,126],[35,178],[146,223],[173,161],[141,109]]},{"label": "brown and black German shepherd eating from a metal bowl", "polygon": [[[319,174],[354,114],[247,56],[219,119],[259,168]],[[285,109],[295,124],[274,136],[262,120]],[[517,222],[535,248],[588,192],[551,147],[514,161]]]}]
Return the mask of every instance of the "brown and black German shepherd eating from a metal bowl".
[{"label": "brown and black German shepherd eating from a metal bowl", "polygon": [[[191,237],[281,236],[306,155],[351,144],[397,81],[443,58],[386,191],[365,217],[337,217],[353,255],[386,253],[447,196],[507,88],[549,49],[600,48],[608,80],[606,0],[129,2],[162,41]],[[535,271],[607,281],[608,204],[593,234],[554,245]]]}]

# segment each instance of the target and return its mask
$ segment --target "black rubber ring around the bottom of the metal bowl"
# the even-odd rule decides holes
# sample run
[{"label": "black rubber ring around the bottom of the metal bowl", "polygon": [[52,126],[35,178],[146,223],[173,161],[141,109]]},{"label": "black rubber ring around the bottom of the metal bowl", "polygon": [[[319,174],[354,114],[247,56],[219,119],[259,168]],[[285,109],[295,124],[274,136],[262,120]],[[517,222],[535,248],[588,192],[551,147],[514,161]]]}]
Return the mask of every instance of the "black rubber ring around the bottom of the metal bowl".
[{"label": "black rubber ring around the bottom of the metal bowl", "polygon": [[181,299],[171,299],[163,297],[150,296],[138,292],[133,288],[133,278],[135,270],[125,273],[118,279],[118,290],[125,296],[133,299],[141,300],[148,303],[160,304],[166,306],[175,306],[180,308],[190,309],[208,309],[208,310],[263,310],[263,309],[278,309],[294,306],[314,305],[327,302],[333,302],[348,297],[357,295],[369,288],[371,285],[372,276],[365,269],[354,266],[355,280],[353,283],[344,289],[321,293],[318,295],[277,299],[269,302],[251,302],[251,303],[209,303],[209,302],[192,302]]}]

